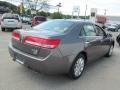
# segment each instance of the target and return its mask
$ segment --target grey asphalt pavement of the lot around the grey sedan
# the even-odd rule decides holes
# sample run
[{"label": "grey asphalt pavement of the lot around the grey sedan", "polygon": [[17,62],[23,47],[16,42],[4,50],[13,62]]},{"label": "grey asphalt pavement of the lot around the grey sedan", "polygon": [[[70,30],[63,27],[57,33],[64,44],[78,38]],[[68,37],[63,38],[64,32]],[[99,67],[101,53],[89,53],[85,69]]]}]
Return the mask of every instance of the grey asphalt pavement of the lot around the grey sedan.
[{"label": "grey asphalt pavement of the lot around the grey sedan", "polygon": [[117,44],[110,58],[89,63],[81,78],[71,80],[65,75],[44,75],[13,62],[8,52],[10,38],[11,32],[0,30],[0,90],[120,90]]}]

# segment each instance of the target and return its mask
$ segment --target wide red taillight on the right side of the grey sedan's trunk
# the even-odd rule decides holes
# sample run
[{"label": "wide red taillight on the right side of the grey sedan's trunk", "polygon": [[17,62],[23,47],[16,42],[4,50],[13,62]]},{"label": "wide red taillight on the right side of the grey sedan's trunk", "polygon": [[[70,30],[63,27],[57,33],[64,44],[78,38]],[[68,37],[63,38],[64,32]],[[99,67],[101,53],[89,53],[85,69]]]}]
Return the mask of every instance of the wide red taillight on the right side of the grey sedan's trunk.
[{"label": "wide red taillight on the right side of the grey sedan's trunk", "polygon": [[25,44],[30,44],[34,46],[39,46],[43,48],[56,48],[60,44],[59,39],[44,39],[38,37],[27,36],[25,37]]}]

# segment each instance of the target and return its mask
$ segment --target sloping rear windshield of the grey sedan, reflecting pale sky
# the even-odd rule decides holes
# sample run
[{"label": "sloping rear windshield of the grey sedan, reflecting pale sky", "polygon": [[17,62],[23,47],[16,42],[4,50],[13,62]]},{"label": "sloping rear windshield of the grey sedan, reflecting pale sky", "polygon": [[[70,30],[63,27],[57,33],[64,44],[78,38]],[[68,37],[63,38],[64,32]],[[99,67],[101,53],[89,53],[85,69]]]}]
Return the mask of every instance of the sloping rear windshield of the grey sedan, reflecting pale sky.
[{"label": "sloping rear windshield of the grey sedan, reflecting pale sky", "polygon": [[33,29],[49,30],[53,32],[63,33],[67,31],[72,25],[73,25],[73,22],[52,20],[52,21],[47,21],[42,24],[39,24],[33,27]]}]

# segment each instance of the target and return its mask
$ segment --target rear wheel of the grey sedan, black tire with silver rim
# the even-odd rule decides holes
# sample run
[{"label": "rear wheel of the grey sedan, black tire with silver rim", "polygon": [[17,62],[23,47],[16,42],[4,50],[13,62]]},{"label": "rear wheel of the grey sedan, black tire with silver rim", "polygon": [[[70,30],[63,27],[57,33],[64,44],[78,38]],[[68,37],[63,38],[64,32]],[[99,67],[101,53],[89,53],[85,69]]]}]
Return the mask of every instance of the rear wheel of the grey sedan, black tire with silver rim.
[{"label": "rear wheel of the grey sedan, black tire with silver rim", "polygon": [[72,64],[72,67],[69,72],[69,77],[74,80],[78,79],[82,75],[84,68],[85,68],[85,56],[80,54]]}]

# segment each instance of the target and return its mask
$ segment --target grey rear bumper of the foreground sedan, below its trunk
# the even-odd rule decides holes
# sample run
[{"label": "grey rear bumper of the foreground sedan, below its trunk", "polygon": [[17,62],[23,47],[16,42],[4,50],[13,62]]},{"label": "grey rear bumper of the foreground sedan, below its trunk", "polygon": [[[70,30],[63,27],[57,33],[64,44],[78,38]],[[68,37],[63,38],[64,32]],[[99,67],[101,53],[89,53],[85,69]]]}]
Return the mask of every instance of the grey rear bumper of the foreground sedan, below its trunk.
[{"label": "grey rear bumper of the foreground sedan, below its trunk", "polygon": [[69,71],[69,60],[65,57],[61,57],[59,52],[56,52],[56,55],[51,54],[43,60],[23,53],[9,44],[9,53],[12,56],[13,60],[16,61],[16,58],[19,57],[19,63],[24,64],[25,66],[29,66],[41,73],[65,74]]}]

